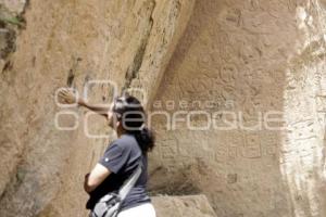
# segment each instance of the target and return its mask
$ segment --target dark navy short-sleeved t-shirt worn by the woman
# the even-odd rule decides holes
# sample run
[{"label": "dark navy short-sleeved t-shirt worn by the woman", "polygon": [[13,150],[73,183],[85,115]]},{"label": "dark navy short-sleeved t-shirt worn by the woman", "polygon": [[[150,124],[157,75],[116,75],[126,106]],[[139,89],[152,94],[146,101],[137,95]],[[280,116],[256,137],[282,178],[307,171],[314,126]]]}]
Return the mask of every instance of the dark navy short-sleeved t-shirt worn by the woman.
[{"label": "dark navy short-sleeved t-shirt worn by the woman", "polygon": [[113,141],[105,150],[104,155],[100,158],[99,164],[106,167],[111,174],[90,193],[90,199],[88,200],[86,207],[92,209],[103,195],[109,192],[117,192],[123,183],[137,169],[140,161],[142,161],[143,165],[142,173],[122,204],[122,210],[151,202],[147,193],[147,155],[142,154],[135,137],[125,133],[120,139]]}]

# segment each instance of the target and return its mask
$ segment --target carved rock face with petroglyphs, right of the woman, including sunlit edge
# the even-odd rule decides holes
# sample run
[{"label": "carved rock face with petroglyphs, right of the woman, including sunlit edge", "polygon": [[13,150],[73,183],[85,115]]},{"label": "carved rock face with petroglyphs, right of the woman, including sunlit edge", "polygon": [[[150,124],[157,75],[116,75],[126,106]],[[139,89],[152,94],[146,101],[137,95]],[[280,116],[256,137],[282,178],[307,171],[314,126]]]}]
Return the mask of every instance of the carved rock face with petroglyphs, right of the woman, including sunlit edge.
[{"label": "carved rock face with petroglyphs, right of the woman, including sunlit edge", "polygon": [[220,217],[325,216],[325,4],[195,9],[152,106],[152,190]]}]

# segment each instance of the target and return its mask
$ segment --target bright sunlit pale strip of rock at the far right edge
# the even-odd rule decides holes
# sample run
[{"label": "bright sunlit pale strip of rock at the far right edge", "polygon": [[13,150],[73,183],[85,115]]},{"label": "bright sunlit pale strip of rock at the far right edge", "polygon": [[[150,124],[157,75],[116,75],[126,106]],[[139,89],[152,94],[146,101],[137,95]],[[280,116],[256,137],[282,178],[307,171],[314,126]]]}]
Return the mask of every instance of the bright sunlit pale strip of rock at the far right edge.
[{"label": "bright sunlit pale strip of rock at the far right edge", "polygon": [[286,71],[285,122],[280,168],[288,182],[294,216],[326,215],[325,4],[297,8],[301,44]]}]

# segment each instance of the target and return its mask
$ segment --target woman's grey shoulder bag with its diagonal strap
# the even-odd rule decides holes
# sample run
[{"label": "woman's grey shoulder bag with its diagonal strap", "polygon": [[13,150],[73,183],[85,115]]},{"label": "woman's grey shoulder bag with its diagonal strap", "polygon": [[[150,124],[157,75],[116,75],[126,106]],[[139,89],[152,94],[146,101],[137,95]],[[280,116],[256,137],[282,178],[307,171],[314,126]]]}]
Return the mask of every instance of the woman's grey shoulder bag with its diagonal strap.
[{"label": "woman's grey shoulder bag with its diagonal strap", "polygon": [[93,209],[90,212],[90,217],[116,217],[121,205],[130,190],[134,188],[136,181],[138,180],[141,174],[140,163],[136,171],[130,176],[130,178],[118,190],[118,193],[108,193],[102,196]]}]

